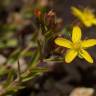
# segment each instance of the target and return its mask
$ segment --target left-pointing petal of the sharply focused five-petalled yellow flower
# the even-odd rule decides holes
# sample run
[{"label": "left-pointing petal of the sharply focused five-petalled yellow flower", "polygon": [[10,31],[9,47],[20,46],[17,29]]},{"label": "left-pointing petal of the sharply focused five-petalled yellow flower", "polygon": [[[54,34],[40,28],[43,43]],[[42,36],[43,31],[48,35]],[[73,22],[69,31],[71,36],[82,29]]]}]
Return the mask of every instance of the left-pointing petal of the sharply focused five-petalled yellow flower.
[{"label": "left-pointing petal of the sharply focused five-petalled yellow flower", "polygon": [[66,47],[66,48],[71,48],[71,44],[72,42],[67,40],[67,39],[64,39],[64,38],[57,38],[55,39],[55,43],[59,46],[62,46],[62,47]]}]

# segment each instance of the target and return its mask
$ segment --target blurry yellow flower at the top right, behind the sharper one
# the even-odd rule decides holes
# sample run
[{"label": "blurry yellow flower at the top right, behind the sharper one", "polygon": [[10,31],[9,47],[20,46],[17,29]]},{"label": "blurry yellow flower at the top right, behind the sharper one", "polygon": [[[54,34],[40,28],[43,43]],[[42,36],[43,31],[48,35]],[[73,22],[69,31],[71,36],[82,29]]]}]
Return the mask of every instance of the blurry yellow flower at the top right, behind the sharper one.
[{"label": "blurry yellow flower at the top right, behind the sharper one", "polygon": [[91,27],[96,25],[96,17],[93,14],[93,10],[85,8],[84,10],[79,10],[76,7],[71,7],[74,16],[78,17],[86,27]]}]

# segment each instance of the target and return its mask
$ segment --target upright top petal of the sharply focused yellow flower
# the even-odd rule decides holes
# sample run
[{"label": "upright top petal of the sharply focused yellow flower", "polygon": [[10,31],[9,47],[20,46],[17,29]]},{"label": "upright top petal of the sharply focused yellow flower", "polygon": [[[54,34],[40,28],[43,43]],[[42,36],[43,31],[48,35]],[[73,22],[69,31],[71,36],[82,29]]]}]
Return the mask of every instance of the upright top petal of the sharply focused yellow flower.
[{"label": "upright top petal of the sharply focused yellow flower", "polygon": [[81,40],[81,29],[79,26],[75,26],[73,27],[73,31],[72,31],[72,41],[75,42],[79,42]]}]

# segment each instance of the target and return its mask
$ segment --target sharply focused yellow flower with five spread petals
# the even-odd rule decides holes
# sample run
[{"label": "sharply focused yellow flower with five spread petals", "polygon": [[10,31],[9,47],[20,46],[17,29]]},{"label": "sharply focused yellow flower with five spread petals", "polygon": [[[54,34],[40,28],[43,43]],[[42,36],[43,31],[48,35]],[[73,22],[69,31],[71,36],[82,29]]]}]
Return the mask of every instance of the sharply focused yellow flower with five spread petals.
[{"label": "sharply focused yellow flower with five spread petals", "polygon": [[92,57],[84,49],[96,45],[96,39],[81,40],[81,29],[79,26],[74,26],[72,31],[72,41],[58,37],[55,39],[55,44],[68,48],[65,54],[65,62],[70,63],[76,56],[81,56],[89,63],[93,63]]}]

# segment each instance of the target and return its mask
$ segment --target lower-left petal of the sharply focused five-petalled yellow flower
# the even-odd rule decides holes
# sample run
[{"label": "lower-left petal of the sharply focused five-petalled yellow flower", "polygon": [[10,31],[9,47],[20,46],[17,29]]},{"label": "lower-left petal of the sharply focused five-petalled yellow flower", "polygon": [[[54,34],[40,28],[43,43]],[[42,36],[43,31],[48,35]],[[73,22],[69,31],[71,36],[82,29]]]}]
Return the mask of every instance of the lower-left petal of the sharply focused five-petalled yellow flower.
[{"label": "lower-left petal of the sharply focused five-petalled yellow flower", "polygon": [[65,62],[66,63],[70,63],[73,61],[73,59],[75,59],[75,57],[77,56],[77,51],[69,49],[65,55]]}]

